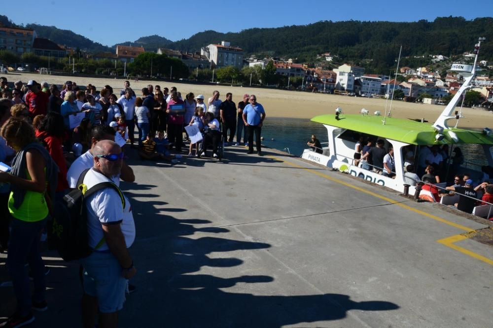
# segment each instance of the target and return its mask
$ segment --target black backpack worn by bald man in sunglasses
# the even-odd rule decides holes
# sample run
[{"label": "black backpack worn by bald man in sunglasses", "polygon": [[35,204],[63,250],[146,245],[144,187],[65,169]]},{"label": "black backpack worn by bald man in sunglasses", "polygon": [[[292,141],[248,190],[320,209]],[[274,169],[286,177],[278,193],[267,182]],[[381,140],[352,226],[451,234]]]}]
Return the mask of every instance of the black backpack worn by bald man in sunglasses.
[{"label": "black backpack worn by bald man in sunglasses", "polygon": [[[53,218],[48,222],[48,244],[50,249],[56,249],[65,261],[72,261],[88,257],[94,249],[88,245],[87,209],[85,199],[95,192],[112,188],[121,197],[125,208],[125,197],[120,189],[112,182],[101,182],[90,189],[83,184],[84,177],[90,168],[84,170],[77,180],[77,188],[70,191],[57,201],[54,206]],[[95,249],[105,242],[101,239]]]}]

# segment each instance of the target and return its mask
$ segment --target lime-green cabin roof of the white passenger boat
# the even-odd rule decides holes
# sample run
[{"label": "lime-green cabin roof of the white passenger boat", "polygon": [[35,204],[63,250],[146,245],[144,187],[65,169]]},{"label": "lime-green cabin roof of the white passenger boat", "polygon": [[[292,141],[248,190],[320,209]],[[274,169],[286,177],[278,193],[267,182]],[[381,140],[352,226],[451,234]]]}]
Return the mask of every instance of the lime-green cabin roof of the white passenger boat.
[{"label": "lime-green cabin roof of the white passenger boat", "polygon": [[[493,135],[486,135],[480,131],[463,129],[448,129],[443,131],[445,137],[441,141],[435,140],[436,130],[429,123],[416,122],[412,119],[387,118],[385,125],[382,116],[340,114],[318,115],[313,122],[321,123],[360,133],[377,135],[386,139],[405,142],[412,145],[432,144],[486,144],[493,145]],[[458,141],[454,141],[448,131],[453,131]]]}]

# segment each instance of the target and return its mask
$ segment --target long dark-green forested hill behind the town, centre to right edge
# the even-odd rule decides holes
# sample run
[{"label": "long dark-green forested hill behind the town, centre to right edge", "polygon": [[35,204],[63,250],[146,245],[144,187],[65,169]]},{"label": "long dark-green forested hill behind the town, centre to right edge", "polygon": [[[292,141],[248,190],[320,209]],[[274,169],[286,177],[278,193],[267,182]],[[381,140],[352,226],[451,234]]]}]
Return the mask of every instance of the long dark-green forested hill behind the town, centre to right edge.
[{"label": "long dark-green forested hill behind the town, centre to right edge", "polygon": [[[303,26],[248,29],[239,33],[205,31],[172,44],[176,49],[198,50],[221,40],[245,49],[247,54],[268,54],[313,61],[317,54],[330,52],[343,60],[373,59],[375,68],[393,66],[402,45],[402,55],[450,56],[472,51],[478,37],[486,37],[482,59],[493,60],[493,18],[466,20],[439,17],[433,22],[322,21]],[[383,67],[382,67],[383,68]]]}]

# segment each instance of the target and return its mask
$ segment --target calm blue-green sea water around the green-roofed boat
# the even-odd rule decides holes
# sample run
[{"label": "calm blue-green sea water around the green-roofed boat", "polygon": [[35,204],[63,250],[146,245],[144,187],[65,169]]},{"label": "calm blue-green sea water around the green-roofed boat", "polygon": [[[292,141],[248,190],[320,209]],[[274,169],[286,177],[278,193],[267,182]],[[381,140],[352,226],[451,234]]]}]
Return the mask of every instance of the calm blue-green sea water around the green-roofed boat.
[{"label": "calm blue-green sea water around the green-roofed boat", "polygon": [[[321,143],[327,142],[327,130],[320,124],[309,119],[267,117],[262,128],[264,140],[262,144],[301,156],[306,143],[315,134]],[[483,149],[478,145],[460,145],[466,162],[476,165],[488,165]],[[474,167],[478,169],[478,167]]]}]

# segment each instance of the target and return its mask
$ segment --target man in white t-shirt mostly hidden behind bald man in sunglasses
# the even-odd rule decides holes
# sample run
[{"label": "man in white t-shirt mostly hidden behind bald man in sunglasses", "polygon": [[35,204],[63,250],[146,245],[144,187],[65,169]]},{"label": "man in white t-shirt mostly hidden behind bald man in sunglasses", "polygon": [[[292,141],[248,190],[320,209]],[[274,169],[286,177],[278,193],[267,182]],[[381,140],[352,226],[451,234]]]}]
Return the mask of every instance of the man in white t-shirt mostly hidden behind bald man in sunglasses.
[{"label": "man in white t-shirt mostly hidden behind bald man in sunglasses", "polygon": [[[79,179],[80,173],[94,165],[94,146],[101,140],[114,141],[114,139],[115,131],[113,128],[105,125],[93,127],[91,130],[91,149],[79,156],[72,165],[70,165],[69,171],[67,172],[67,181],[69,182],[70,188],[77,188],[77,180]],[[123,161],[120,174],[113,177],[114,184],[120,186],[120,179],[127,182],[135,181],[134,171],[125,163],[125,161]]]}]

